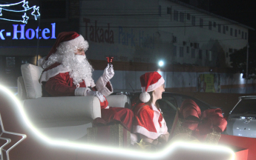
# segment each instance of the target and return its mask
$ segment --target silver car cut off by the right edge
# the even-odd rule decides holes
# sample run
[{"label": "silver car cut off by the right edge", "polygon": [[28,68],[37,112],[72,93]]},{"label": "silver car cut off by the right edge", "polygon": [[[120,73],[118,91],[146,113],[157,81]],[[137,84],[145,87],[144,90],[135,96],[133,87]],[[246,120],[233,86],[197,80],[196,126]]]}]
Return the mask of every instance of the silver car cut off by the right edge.
[{"label": "silver car cut off by the right edge", "polygon": [[240,96],[227,121],[226,134],[256,138],[256,96]]}]

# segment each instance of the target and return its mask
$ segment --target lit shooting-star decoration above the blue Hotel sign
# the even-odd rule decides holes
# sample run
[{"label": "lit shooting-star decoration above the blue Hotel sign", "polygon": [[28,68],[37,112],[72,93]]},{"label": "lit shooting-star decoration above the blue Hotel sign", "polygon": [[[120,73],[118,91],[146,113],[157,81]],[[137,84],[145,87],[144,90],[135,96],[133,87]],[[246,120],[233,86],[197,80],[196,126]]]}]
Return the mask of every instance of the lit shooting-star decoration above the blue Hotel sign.
[{"label": "lit shooting-star decoration above the blue Hotel sign", "polygon": [[[4,7],[10,7],[10,6],[14,6],[17,4],[22,4],[22,7],[24,7],[24,10],[9,10],[7,8]],[[10,11],[10,12],[14,12],[14,13],[21,13],[24,12],[24,16],[22,16],[23,20],[14,20],[14,19],[4,19],[4,18],[0,18],[1,20],[5,20],[5,21],[19,21],[22,22],[24,24],[27,24],[27,19],[29,19],[29,17],[27,17],[27,10],[31,10],[33,9],[33,12],[31,12],[31,15],[35,17],[35,20],[37,20],[38,16],[40,16],[39,13],[39,7],[36,7],[36,5],[34,5],[33,7],[29,7],[28,6],[28,1],[20,1],[18,3],[15,4],[0,4],[0,16],[3,16],[3,14],[1,13],[1,10],[6,10],[6,11]],[[37,12],[37,14],[35,14]]]}]

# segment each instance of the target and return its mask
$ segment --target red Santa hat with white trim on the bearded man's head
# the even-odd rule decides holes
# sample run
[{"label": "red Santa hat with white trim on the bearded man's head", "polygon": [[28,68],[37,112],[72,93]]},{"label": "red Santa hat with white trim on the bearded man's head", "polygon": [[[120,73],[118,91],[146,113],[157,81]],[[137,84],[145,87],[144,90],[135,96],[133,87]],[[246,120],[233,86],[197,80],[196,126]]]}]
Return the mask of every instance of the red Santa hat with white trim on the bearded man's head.
[{"label": "red Santa hat with white trim on the bearded man's head", "polygon": [[[70,32],[59,33],[55,44],[53,44],[53,47],[51,48],[45,60],[47,60],[53,53],[56,53],[57,47],[59,47],[60,45],[63,45],[65,47],[68,45],[70,47],[74,47],[74,46],[79,46],[79,43],[83,41],[85,41],[85,39],[82,37],[82,35],[79,35],[76,32],[70,31]],[[87,50],[89,45],[87,41],[85,42],[86,42],[85,50]]]}]

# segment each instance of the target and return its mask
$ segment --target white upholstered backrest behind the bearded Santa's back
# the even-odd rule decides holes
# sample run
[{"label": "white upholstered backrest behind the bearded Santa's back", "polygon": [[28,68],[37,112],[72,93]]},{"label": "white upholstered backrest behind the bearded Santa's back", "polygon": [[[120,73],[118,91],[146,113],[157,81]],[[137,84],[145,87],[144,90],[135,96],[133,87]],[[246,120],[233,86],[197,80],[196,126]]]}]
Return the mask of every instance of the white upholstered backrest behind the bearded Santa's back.
[{"label": "white upholstered backrest behind the bearded Santa's back", "polygon": [[[35,66],[33,64],[22,64],[21,69],[22,78],[24,81],[24,88],[27,93],[27,99],[37,99],[39,97],[42,97],[42,85],[39,83],[39,79],[43,71],[42,67]],[[21,82],[20,85],[22,89],[22,80],[18,80],[18,87],[19,82]]]}]

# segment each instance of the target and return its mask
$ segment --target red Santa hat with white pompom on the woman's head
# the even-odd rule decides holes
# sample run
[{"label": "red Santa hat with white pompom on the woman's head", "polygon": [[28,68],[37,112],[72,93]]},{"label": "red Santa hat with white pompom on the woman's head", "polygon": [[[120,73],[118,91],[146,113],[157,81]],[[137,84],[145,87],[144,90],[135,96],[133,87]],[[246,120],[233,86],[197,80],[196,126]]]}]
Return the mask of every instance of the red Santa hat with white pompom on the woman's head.
[{"label": "red Santa hat with white pompom on the woman's head", "polygon": [[142,88],[142,93],[140,93],[140,101],[146,103],[150,100],[150,95],[148,92],[156,90],[162,84],[165,83],[163,76],[157,72],[145,73],[140,76],[140,84]]}]

